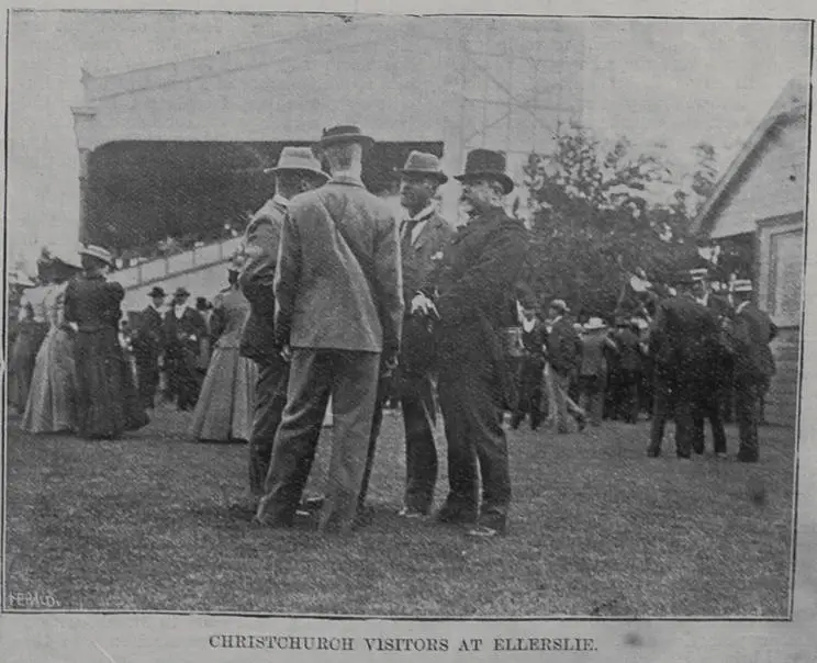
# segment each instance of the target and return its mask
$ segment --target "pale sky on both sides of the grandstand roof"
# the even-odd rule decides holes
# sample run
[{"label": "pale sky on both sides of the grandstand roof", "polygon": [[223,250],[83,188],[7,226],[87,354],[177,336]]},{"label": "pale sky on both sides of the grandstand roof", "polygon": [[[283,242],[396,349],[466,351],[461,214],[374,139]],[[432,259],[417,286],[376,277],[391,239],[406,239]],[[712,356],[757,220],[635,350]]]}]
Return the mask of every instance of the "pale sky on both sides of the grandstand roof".
[{"label": "pale sky on both sides of the grandstand roof", "polygon": [[[78,166],[71,105],[82,69],[127,71],[254,45],[332,16],[25,12],[12,16],[10,259],[72,245]],[[808,26],[793,22],[582,20],[584,122],[602,138],[665,145],[683,162],[705,141],[725,168],[791,78],[807,79]]]}]

